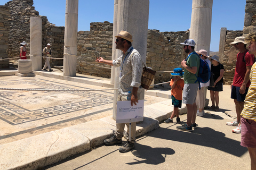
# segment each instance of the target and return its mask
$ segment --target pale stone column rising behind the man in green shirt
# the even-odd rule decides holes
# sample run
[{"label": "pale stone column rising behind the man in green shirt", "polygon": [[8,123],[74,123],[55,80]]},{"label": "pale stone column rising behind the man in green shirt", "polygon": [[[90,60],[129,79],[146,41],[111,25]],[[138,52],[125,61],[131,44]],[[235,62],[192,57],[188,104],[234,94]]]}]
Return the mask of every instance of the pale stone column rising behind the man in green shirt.
[{"label": "pale stone column rising behind the man in green shirt", "polygon": [[211,43],[213,0],[193,0],[190,36],[196,42],[195,50],[205,49],[209,55]]}]

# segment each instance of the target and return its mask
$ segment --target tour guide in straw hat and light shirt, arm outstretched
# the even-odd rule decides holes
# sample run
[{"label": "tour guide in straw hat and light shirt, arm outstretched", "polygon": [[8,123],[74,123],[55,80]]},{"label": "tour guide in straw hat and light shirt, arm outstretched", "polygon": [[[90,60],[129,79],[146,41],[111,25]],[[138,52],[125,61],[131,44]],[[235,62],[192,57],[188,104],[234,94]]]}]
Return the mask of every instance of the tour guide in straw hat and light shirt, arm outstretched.
[{"label": "tour guide in straw hat and light shirt, arm outstretched", "polygon": [[[137,105],[136,103],[139,102],[138,100],[140,99],[142,91],[142,88],[139,88],[143,68],[142,58],[139,52],[132,47],[133,40],[129,32],[121,31],[118,36],[115,37],[116,49],[122,50],[123,55],[113,61],[104,60],[102,57],[97,58],[96,61],[111,66],[120,66],[117,101],[127,101],[128,91],[131,91],[131,106],[133,106],[133,104]],[[135,148],[136,122],[131,123],[131,132],[129,131],[129,123],[116,124],[116,131],[113,137],[104,140],[106,146],[122,143],[125,124],[127,126],[128,136],[131,135],[131,141],[127,140],[127,142],[119,148],[119,152],[127,152]]]}]

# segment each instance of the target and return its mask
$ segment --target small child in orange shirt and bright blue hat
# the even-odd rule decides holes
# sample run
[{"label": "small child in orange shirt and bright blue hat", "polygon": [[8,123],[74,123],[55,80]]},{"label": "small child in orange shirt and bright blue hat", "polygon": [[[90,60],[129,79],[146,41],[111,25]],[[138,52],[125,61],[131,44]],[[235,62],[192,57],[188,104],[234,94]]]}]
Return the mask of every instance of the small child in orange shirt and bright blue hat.
[{"label": "small child in orange shirt and bright blue hat", "polygon": [[170,118],[164,121],[164,123],[173,123],[173,118],[176,116],[177,123],[180,123],[180,117],[179,117],[179,108],[181,108],[182,105],[182,90],[184,87],[184,80],[181,79],[183,77],[184,72],[181,68],[173,69],[173,73],[171,73],[172,76],[175,76],[170,82],[170,86],[172,88],[171,94],[172,94],[172,105],[173,105],[173,112]]}]

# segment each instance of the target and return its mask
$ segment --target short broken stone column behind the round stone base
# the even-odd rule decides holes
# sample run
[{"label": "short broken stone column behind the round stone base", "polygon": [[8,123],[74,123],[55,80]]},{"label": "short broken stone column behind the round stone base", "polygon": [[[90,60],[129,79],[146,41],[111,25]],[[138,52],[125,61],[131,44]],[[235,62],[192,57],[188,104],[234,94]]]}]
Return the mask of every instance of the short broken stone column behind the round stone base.
[{"label": "short broken stone column behind the round stone base", "polygon": [[30,17],[30,59],[32,70],[42,70],[42,18]]}]

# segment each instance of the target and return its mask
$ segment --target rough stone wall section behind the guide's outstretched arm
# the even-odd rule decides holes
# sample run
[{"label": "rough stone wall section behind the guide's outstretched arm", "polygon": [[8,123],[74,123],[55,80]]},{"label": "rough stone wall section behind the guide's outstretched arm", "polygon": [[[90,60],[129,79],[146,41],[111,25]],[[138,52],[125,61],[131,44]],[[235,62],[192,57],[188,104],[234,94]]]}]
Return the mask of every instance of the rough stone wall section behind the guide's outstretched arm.
[{"label": "rough stone wall section behind the guide's outstretched arm", "polygon": [[77,71],[81,74],[110,78],[111,66],[96,63],[97,57],[112,58],[113,23],[93,22],[90,31],[77,36]]}]

